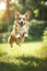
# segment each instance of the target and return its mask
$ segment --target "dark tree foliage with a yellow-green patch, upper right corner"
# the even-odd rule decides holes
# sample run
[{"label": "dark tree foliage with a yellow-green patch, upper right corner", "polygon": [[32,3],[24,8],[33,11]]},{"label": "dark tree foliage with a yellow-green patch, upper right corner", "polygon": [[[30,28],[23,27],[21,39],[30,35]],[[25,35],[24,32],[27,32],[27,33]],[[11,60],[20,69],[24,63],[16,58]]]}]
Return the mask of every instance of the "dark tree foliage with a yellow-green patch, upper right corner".
[{"label": "dark tree foliage with a yellow-green patch, upper right corner", "polygon": [[47,0],[17,0],[23,9],[22,12],[30,10],[33,17],[47,21]]}]

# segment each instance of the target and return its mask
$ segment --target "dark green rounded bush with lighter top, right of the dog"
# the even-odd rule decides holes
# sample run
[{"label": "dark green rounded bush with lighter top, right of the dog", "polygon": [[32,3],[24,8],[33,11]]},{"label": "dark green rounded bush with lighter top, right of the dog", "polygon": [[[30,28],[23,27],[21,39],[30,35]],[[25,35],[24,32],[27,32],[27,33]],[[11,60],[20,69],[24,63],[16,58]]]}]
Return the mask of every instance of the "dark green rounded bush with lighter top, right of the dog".
[{"label": "dark green rounded bush with lighter top, right of the dog", "polygon": [[44,21],[32,20],[30,23],[30,35],[36,39],[40,38],[44,33]]}]

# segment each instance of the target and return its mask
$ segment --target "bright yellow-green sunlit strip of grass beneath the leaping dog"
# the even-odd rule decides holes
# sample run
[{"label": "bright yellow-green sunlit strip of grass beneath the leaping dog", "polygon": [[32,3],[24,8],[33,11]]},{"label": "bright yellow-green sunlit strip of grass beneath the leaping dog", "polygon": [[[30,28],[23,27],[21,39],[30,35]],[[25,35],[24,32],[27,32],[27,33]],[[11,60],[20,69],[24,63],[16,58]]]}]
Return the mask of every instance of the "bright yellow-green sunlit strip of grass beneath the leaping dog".
[{"label": "bright yellow-green sunlit strip of grass beneath the leaping dog", "polygon": [[37,56],[42,47],[40,43],[25,43],[21,47],[13,45],[13,48],[9,44],[0,44],[0,50],[7,52],[9,56]]}]

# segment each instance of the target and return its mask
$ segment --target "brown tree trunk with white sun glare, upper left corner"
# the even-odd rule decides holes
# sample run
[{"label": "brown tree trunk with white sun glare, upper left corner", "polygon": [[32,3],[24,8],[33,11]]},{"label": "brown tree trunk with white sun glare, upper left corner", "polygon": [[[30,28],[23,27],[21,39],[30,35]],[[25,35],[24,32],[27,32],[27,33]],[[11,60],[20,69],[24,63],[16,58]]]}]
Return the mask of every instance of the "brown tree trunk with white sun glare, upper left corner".
[{"label": "brown tree trunk with white sun glare, upper left corner", "polygon": [[2,14],[2,20],[5,20],[8,17],[10,17],[11,14],[11,0],[0,0],[0,11],[3,13]]}]

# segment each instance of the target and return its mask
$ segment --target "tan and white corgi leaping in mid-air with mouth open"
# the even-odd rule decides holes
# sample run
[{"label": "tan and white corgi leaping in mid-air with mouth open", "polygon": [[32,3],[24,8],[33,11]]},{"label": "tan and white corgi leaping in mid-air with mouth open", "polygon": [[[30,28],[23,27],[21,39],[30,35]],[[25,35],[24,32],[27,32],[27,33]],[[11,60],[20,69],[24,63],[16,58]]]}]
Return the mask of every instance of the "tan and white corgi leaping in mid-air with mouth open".
[{"label": "tan and white corgi leaping in mid-air with mouth open", "polygon": [[13,43],[16,43],[19,46],[24,42],[24,38],[28,37],[28,19],[31,12],[27,11],[25,14],[21,14],[17,10],[14,12],[14,24],[13,29],[8,38],[11,47]]}]

